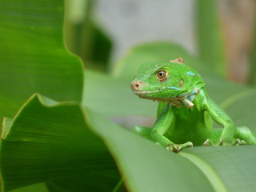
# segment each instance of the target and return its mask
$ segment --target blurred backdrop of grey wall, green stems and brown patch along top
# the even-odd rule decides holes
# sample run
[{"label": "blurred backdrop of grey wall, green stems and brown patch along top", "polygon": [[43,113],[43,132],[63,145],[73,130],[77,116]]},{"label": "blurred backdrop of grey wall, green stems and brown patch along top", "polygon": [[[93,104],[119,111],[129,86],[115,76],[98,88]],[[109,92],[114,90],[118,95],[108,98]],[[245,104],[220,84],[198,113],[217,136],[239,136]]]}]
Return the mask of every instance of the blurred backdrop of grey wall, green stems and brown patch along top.
[{"label": "blurred backdrop of grey wall, green stems and brown patch along top", "polygon": [[[130,47],[169,41],[233,82],[254,83],[255,1],[66,1],[66,44],[111,72]],[[187,63],[189,64],[189,63]]]}]

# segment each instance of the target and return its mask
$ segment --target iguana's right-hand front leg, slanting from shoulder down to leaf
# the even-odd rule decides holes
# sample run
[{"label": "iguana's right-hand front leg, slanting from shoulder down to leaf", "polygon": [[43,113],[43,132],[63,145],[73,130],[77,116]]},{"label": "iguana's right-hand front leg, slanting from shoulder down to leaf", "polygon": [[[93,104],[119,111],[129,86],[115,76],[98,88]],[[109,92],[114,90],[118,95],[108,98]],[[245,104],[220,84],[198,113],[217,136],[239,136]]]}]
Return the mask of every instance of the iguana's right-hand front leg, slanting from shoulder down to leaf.
[{"label": "iguana's right-hand front leg, slanting from shoulder down to leaf", "polygon": [[223,127],[217,145],[231,146],[234,142],[234,135],[236,134],[236,126],[232,119],[210,98],[206,99],[204,108],[209,112],[214,122],[217,122]]}]

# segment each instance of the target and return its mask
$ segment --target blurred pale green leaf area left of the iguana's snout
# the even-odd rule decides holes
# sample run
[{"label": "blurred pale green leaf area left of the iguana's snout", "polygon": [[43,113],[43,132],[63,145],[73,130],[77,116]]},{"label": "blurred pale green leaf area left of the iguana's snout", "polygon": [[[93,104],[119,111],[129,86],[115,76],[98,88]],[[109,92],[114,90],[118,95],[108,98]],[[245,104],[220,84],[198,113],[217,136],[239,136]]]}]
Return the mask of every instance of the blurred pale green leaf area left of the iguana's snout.
[{"label": "blurred pale green leaf area left of the iguana's snout", "polygon": [[157,103],[142,100],[132,93],[129,80],[90,70],[85,72],[82,105],[108,116],[154,116],[157,109]]}]

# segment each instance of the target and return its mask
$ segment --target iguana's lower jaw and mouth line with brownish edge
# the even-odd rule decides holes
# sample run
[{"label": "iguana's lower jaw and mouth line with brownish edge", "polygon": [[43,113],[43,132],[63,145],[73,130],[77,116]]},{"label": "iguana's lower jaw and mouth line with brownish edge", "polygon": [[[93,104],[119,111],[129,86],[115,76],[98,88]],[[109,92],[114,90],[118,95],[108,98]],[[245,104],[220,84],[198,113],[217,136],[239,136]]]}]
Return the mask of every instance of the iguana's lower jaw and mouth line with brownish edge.
[{"label": "iguana's lower jaw and mouth line with brownish edge", "polygon": [[138,95],[138,97],[140,98],[146,98],[158,102],[166,102],[172,106],[186,106],[188,108],[191,108],[194,106],[194,103],[192,101],[194,100],[196,94],[198,94],[200,90],[198,90],[198,88],[195,87],[190,93],[178,94],[176,97],[170,98],[156,98],[148,96],[148,94],[158,93],[160,91],[161,90],[134,90],[134,94]]}]

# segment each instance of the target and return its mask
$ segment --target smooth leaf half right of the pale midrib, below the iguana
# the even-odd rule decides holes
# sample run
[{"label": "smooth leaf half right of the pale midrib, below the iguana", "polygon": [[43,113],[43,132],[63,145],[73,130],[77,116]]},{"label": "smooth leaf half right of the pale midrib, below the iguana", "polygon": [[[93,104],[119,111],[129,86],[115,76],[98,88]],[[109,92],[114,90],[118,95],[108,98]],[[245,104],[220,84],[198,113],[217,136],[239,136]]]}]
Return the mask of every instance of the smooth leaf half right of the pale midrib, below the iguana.
[{"label": "smooth leaf half right of the pale midrib, below the iguana", "polygon": [[218,177],[215,184],[225,186],[227,191],[253,192],[256,189],[256,146],[201,146],[186,149],[181,155],[204,170],[210,166],[212,173],[208,178]]}]

